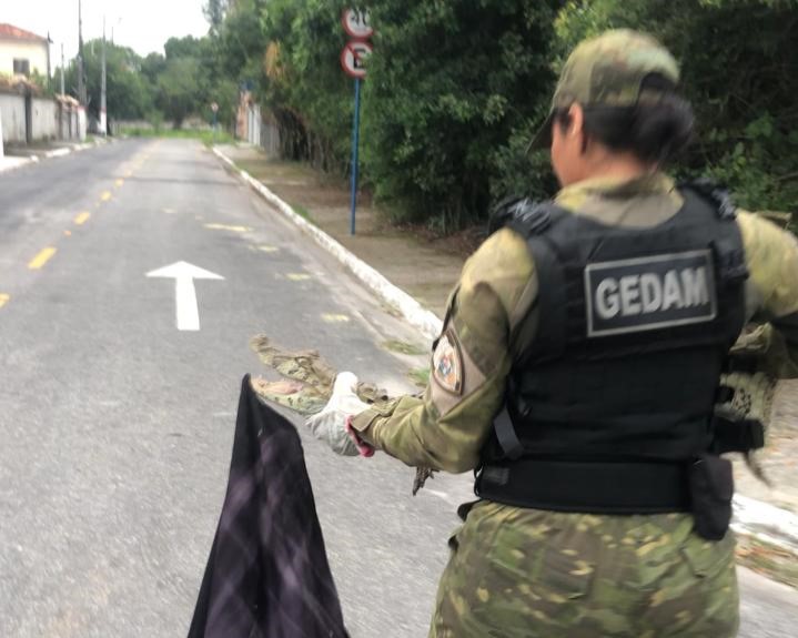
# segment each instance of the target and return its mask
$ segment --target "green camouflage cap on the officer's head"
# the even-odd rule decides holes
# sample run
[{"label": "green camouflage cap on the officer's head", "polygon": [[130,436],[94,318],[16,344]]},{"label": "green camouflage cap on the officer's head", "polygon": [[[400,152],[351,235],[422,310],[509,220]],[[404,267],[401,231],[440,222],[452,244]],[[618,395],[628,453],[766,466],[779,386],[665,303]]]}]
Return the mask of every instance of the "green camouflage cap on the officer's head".
[{"label": "green camouflage cap on the officer's head", "polygon": [[583,107],[634,107],[647,97],[658,99],[661,90],[643,89],[651,74],[674,85],[679,65],[653,37],[630,29],[605,31],[584,40],[568,57],[554,91],[552,109],[529,148],[550,143],[550,128],[557,109],[574,102]]}]

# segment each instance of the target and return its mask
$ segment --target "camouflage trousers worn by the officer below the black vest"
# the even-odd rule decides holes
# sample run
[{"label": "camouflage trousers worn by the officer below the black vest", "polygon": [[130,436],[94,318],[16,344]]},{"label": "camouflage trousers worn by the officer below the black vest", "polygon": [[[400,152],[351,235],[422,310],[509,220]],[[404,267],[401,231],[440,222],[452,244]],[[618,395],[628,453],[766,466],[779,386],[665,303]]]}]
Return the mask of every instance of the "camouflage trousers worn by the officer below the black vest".
[{"label": "camouflage trousers worn by the officer below the black vest", "polygon": [[481,502],[449,539],[430,638],[736,636],[734,537],[691,529]]}]

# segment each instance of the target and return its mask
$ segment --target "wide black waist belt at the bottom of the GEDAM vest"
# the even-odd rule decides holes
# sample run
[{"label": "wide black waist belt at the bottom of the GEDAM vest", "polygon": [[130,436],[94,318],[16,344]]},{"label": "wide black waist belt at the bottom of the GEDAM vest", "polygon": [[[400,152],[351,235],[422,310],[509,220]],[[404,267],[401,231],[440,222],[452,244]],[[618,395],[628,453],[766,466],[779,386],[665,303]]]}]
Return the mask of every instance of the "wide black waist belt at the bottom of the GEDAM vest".
[{"label": "wide black waist belt at the bottom of the GEDAM vest", "polygon": [[686,464],[521,458],[483,466],[481,498],[584,514],[656,514],[690,508]]}]

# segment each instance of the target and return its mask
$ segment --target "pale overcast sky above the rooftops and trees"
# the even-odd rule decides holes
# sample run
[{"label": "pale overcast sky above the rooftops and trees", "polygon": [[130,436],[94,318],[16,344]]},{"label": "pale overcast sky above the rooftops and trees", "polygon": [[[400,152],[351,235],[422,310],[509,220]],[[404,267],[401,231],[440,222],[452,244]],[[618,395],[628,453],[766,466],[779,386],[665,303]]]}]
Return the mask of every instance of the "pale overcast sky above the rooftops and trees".
[{"label": "pale overcast sky above the rooftops and trees", "polygon": [[[204,36],[208,22],[202,14],[204,0],[83,0],[83,40],[114,31],[117,44],[145,55],[163,53],[172,36]],[[53,68],[60,64],[61,43],[67,59],[78,52],[78,0],[0,0],[0,22],[47,36],[53,40]]]}]

